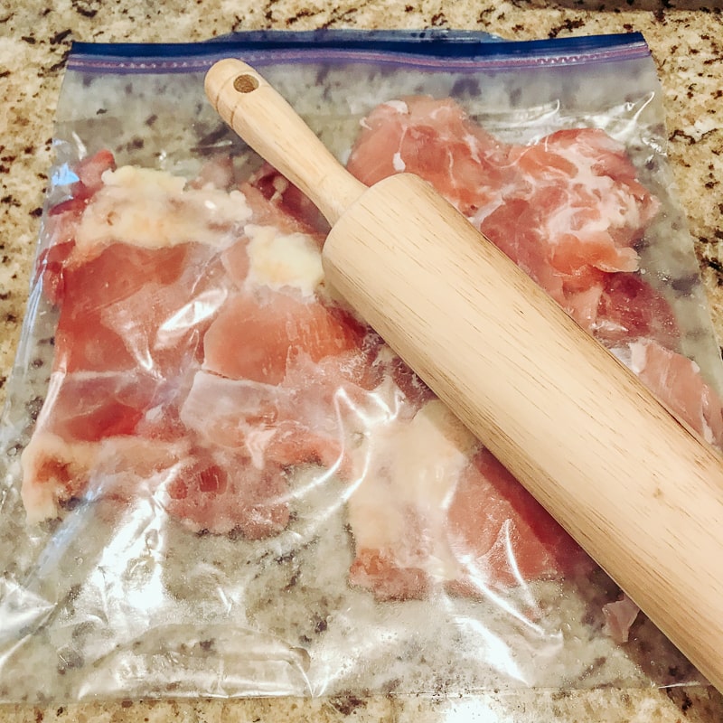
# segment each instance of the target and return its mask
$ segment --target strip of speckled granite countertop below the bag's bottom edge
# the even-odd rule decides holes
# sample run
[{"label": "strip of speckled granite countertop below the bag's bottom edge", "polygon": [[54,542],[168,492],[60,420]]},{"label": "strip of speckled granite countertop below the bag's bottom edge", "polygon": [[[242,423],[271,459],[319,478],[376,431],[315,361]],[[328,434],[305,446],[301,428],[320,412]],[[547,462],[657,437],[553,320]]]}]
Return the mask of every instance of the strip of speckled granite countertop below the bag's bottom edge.
[{"label": "strip of speckled granite countertop below the bag's bottom edge", "polygon": [[0,706],[4,723],[710,723],[721,700],[706,689],[541,690],[465,698],[332,698],[246,700],[122,700],[47,708]]}]

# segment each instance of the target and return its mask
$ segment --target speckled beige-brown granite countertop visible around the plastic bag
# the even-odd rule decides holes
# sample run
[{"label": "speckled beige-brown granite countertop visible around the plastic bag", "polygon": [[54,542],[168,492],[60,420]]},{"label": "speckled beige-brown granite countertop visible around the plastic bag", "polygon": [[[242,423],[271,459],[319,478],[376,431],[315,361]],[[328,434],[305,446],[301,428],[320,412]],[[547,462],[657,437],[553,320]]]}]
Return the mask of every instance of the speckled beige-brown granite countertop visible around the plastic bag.
[{"label": "speckled beige-brown granite countertop visible around the plastic bag", "polygon": [[[673,172],[723,338],[723,16],[698,0],[6,0],[0,9],[0,405],[27,299],[53,110],[70,42],[199,41],[231,31],[316,27],[484,30],[507,38],[640,31],[662,79]],[[723,698],[706,687],[490,692],[469,699],[162,700],[38,708],[0,706],[0,720],[713,721]]]}]

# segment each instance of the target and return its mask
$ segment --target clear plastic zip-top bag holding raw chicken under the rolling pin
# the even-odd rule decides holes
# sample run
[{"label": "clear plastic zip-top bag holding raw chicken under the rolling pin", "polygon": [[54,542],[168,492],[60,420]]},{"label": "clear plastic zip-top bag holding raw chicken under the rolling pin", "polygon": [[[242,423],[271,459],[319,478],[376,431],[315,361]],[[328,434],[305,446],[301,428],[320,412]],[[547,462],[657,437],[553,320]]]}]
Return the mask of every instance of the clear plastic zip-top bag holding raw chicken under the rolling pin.
[{"label": "clear plastic zip-top bag holding raw chicken under the rolling pin", "polygon": [[74,46],[0,437],[0,699],[698,680],[325,283],[325,222],[203,95],[241,57],[365,183],[426,178],[720,446],[643,38],[486,40]]}]

